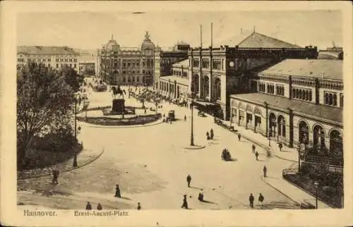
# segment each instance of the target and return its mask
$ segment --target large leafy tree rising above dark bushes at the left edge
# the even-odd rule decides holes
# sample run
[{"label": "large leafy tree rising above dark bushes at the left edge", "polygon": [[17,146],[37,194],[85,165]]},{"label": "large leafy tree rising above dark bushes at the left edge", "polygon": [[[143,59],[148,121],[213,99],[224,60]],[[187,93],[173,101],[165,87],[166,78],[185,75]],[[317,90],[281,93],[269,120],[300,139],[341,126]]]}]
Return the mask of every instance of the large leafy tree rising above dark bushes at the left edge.
[{"label": "large leafy tree rising above dark bushes at the left edge", "polygon": [[[73,89],[62,72],[29,63],[17,73],[17,154],[24,166],[35,136],[70,128]],[[67,77],[66,77],[67,78]]]}]

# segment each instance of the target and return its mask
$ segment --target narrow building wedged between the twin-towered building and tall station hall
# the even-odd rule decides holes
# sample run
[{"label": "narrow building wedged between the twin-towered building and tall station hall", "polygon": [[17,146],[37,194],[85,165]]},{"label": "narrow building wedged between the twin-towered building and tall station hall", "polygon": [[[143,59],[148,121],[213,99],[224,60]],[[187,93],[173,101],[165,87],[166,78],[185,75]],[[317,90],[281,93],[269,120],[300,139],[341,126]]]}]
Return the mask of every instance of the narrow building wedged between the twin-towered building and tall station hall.
[{"label": "narrow building wedged between the twin-towered building and tall station hall", "polygon": [[155,49],[153,88],[158,89],[160,77],[172,75],[172,64],[188,58],[190,45],[178,42],[173,49],[163,51],[160,47]]}]

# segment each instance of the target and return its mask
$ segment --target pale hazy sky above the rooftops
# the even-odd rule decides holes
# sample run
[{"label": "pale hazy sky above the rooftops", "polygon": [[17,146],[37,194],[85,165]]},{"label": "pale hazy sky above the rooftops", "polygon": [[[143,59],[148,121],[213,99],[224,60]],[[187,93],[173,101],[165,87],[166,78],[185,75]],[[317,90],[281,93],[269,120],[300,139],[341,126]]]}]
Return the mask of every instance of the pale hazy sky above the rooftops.
[{"label": "pale hazy sky above the rooftops", "polygon": [[[210,46],[210,23],[213,23],[213,46],[240,34],[241,29],[319,49],[342,47],[340,11],[145,11],[19,13],[18,45],[68,46],[97,49],[114,35],[121,47],[140,47],[145,31],[156,45],[172,47],[178,41]],[[235,46],[236,44],[234,44]]]}]

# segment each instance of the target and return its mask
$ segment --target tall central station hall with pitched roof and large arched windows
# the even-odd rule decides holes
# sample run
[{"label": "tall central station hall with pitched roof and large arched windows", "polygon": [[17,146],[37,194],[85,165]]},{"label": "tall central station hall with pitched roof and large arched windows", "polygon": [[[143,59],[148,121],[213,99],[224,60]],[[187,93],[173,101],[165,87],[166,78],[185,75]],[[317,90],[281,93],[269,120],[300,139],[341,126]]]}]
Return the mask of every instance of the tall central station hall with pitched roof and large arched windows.
[{"label": "tall central station hall with pitched roof and large arched windows", "polygon": [[252,71],[268,68],[283,59],[317,56],[317,47],[303,48],[257,32],[234,47],[190,49],[189,93],[196,95],[195,103],[206,111],[229,120],[229,96],[249,91]]}]

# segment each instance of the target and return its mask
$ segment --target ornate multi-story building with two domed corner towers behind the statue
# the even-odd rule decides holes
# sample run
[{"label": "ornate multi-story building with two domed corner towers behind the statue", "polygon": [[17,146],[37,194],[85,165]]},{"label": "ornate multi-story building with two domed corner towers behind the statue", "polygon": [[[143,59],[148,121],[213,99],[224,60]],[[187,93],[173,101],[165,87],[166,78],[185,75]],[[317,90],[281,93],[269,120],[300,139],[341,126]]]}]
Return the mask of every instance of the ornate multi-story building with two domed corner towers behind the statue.
[{"label": "ornate multi-story building with two domed corner towers behind the statue", "polygon": [[110,39],[97,51],[97,70],[110,85],[152,85],[155,44],[148,32],[138,47],[120,47]]}]

